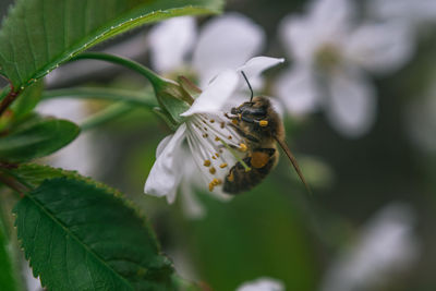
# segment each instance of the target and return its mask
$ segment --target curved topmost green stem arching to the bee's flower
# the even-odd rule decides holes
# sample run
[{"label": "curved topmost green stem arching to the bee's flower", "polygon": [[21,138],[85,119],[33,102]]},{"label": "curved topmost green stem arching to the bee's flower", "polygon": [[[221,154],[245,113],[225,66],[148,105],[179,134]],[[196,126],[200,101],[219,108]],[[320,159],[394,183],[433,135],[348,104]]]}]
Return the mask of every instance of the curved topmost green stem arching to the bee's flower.
[{"label": "curved topmost green stem arching to the bee's flower", "polygon": [[153,85],[153,87],[159,87],[160,85],[164,85],[165,83],[168,83],[168,81],[161,78],[158,74],[153,72],[152,70],[145,68],[138,62],[128,60],[113,54],[108,54],[108,53],[102,53],[102,52],[84,52],[81,54],[75,56],[72,58],[70,61],[75,61],[75,60],[83,60],[83,59],[92,59],[92,60],[102,60],[102,61],[108,61],[112,63],[117,63],[120,65],[123,65],[125,68],[129,68],[133,71],[136,71],[137,73],[142,74],[145,76]]}]

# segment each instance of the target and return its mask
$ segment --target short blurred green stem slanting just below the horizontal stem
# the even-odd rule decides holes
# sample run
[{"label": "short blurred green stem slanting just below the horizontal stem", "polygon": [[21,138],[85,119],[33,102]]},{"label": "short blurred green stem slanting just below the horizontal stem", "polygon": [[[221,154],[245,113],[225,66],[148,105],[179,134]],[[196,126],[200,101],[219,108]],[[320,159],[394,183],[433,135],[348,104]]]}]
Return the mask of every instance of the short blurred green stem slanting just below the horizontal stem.
[{"label": "short blurred green stem slanting just below the horizontal stem", "polygon": [[85,121],[83,121],[81,124],[81,129],[82,131],[94,129],[100,124],[123,116],[132,109],[134,109],[134,107],[123,102],[110,105],[104,110],[95,113],[94,116],[90,116]]}]

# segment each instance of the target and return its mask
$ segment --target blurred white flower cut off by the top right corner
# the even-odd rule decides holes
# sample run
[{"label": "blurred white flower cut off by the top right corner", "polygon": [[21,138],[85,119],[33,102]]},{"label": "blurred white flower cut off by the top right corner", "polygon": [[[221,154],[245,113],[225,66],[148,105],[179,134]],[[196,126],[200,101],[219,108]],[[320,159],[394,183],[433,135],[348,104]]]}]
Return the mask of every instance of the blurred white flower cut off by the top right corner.
[{"label": "blurred white flower cut off by the top right corner", "polygon": [[435,0],[371,0],[370,14],[379,20],[407,22],[411,25],[435,24]]}]

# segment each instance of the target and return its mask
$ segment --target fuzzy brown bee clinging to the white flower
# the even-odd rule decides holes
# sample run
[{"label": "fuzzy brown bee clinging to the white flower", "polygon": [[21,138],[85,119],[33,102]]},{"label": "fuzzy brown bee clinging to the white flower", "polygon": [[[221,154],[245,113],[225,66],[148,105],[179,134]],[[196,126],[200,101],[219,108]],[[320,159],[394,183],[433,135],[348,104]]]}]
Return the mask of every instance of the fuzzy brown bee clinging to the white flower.
[{"label": "fuzzy brown bee clinging to the white flower", "polygon": [[[277,165],[280,145],[288,156],[301,181],[310,192],[307,183],[299,165],[284,140],[284,126],[279,114],[274,110],[267,97],[253,98],[253,89],[244,76],[250,90],[250,101],[230,110],[226,114],[231,120],[230,125],[245,140],[246,154],[238,161],[225,178],[222,190],[229,194],[239,194],[257,185]],[[245,166],[245,167],[244,167]]]}]

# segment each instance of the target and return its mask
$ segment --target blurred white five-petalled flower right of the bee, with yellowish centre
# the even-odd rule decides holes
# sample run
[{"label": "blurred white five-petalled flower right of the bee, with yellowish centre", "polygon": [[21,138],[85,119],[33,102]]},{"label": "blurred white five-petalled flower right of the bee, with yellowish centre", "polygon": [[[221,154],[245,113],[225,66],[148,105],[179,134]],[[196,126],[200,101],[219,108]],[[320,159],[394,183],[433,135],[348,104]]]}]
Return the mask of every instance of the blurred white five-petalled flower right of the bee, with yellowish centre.
[{"label": "blurred white five-petalled flower right of the bee, with yellowish centre", "polygon": [[356,137],[375,120],[376,94],[366,72],[389,73],[412,54],[409,29],[398,23],[355,24],[348,0],[317,0],[305,16],[287,16],[280,37],[293,65],[275,90],[291,114],[326,111],[341,134]]}]

